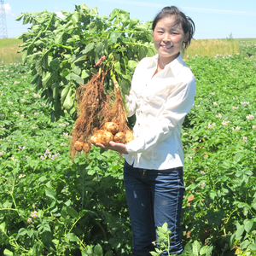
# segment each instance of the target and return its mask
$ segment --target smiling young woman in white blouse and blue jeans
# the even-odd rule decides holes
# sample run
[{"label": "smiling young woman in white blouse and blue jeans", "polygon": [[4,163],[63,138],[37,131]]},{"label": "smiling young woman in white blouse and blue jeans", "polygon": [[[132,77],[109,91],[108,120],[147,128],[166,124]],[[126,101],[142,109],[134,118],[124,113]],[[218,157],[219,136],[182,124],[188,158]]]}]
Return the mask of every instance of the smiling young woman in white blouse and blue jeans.
[{"label": "smiling young woman in white blouse and blue jeans", "polygon": [[183,251],[181,127],[194,104],[195,77],[180,51],[189,46],[195,24],[171,6],[156,15],[152,29],[158,54],[138,63],[126,96],[129,116],[137,117],[135,139],[127,144],[111,142],[109,147],[97,144],[125,155],[125,191],[134,256],[151,255],[156,228],[164,223],[172,231],[169,252]]}]

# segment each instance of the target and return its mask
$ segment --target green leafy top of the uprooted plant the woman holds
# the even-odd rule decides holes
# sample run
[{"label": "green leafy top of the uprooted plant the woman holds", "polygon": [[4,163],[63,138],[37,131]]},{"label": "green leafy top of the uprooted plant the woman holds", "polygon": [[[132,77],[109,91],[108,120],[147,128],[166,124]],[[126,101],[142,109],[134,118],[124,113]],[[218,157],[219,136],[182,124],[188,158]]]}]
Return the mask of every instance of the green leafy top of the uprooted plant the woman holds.
[{"label": "green leafy top of the uprooted plant the woman holds", "polygon": [[[137,61],[154,55],[151,23],[130,19],[129,12],[114,9],[100,17],[96,8],[75,6],[73,13],[62,11],[65,19],[46,10],[22,13],[16,20],[32,24],[20,39],[23,63],[32,61],[32,84],[51,105],[51,120],[60,119],[66,109],[76,112],[75,93],[80,84],[97,72],[96,63],[106,56],[104,68],[111,70],[123,93],[130,90]],[[113,75],[105,78],[106,91],[113,90]],[[73,115],[76,118],[75,115]]]}]

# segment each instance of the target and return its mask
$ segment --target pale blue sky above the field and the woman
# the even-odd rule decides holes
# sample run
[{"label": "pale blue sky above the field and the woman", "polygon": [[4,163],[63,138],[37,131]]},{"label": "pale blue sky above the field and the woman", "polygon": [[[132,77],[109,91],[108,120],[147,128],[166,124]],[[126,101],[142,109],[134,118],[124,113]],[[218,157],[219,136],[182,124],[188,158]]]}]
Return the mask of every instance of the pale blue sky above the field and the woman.
[{"label": "pale blue sky above the field and the woman", "polygon": [[129,11],[131,18],[141,21],[153,20],[160,9],[175,5],[195,21],[195,39],[228,38],[230,33],[233,38],[256,38],[256,0],[4,0],[8,37],[15,38],[26,32],[28,26],[23,26],[22,21],[15,21],[15,17],[22,12],[44,9],[49,12],[73,12],[74,4],[81,3],[90,8],[97,7],[101,16],[108,16],[117,8]]}]

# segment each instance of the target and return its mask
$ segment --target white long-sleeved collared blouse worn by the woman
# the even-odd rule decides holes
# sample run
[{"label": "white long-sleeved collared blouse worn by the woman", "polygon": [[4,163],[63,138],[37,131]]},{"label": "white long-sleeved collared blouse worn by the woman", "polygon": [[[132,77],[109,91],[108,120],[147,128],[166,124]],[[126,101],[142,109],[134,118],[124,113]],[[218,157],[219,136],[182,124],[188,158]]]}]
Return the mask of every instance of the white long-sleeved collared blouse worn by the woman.
[{"label": "white long-sleeved collared blouse worn by the woman", "polygon": [[183,166],[181,128],[194,104],[195,76],[181,54],[154,75],[157,64],[158,55],[140,61],[125,96],[128,117],[136,113],[137,120],[124,156],[134,167],[165,170]]}]

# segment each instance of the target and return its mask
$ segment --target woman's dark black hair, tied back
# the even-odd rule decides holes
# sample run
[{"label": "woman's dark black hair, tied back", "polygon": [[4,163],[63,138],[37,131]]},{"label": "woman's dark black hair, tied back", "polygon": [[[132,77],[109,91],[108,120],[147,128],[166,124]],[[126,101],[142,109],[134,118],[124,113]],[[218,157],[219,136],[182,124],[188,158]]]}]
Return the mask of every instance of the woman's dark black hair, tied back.
[{"label": "woman's dark black hair, tied back", "polygon": [[189,39],[186,42],[183,42],[183,49],[187,49],[191,42],[191,39],[195,33],[195,23],[194,21],[189,18],[188,16],[184,15],[176,6],[166,6],[163,8],[158,15],[155,16],[153,23],[152,23],[152,30],[157,24],[157,22],[166,16],[175,16],[175,22],[173,26],[178,26],[179,24],[183,27],[183,32],[187,34],[189,32]]}]

